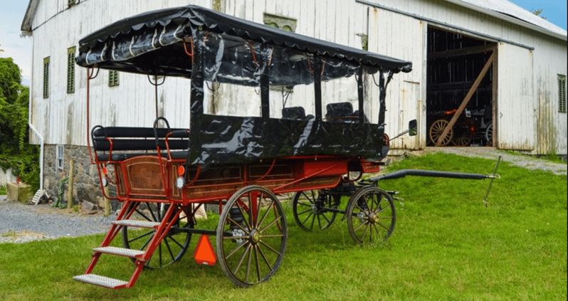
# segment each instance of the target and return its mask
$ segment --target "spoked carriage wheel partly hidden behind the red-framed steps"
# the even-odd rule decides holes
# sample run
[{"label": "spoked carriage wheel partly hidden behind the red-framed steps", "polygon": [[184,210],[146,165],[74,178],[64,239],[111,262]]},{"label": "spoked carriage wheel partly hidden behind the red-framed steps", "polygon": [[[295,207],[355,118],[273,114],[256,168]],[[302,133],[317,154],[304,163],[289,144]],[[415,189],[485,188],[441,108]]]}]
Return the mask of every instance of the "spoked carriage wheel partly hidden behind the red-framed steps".
[{"label": "spoked carriage wheel partly hidden behind the red-framed steps", "polygon": [[[155,202],[144,202],[139,206],[136,205],[132,203],[129,208],[129,211],[135,208],[136,212],[133,218],[158,223],[162,222],[168,206],[178,206]],[[167,236],[159,243],[152,257],[144,264],[144,268],[163,268],[182,259],[191,241],[191,233],[186,230],[194,228],[193,216],[189,213],[191,213],[191,209],[184,208],[174,226],[169,229]],[[155,233],[156,230],[153,228],[124,226],[122,228],[122,244],[125,248],[145,250],[154,238]],[[132,258],[132,262],[135,261],[136,259]]]}]

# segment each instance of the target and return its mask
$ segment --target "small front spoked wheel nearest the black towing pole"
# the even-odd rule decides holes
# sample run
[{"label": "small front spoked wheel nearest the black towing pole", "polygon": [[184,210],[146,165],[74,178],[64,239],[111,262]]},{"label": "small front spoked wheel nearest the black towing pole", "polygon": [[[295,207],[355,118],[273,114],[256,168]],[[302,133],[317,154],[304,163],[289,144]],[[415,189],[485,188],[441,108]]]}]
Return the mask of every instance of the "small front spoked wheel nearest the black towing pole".
[{"label": "small front spoked wheel nearest the black towing pole", "polygon": [[347,227],[357,243],[386,241],[396,222],[396,211],[390,194],[367,186],[357,191],[347,205]]}]

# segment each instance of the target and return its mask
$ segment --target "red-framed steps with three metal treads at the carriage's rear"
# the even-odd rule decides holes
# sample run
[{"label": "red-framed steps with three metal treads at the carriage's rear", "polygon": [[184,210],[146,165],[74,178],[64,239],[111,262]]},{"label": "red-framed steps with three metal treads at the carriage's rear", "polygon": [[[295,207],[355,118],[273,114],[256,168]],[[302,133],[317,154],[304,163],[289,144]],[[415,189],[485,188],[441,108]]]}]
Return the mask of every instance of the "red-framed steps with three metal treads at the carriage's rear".
[{"label": "red-framed steps with three metal treads at the carriage's rear", "polygon": [[[152,221],[138,221],[130,219],[132,217],[132,213],[134,213],[135,211],[134,208],[131,208],[129,211],[128,208],[130,207],[130,204],[132,204],[132,202],[125,202],[124,206],[122,206],[120,214],[117,216],[117,220],[112,222],[112,226],[110,226],[110,230],[108,231],[107,236],[105,236],[105,239],[102,241],[100,247],[93,249],[93,258],[91,259],[90,264],[85,271],[85,274],[75,276],[73,277],[73,280],[112,289],[132,287],[133,285],[135,285],[138,276],[144,268],[144,264],[147,263],[147,261],[152,257],[154,250],[156,250],[159,243],[161,243],[164,237],[167,236],[169,229],[172,228],[172,225],[177,221],[179,211],[177,211],[177,206],[169,206],[164,218],[162,218],[162,223]],[[134,228],[153,228],[155,231],[154,237],[145,250],[134,250],[129,248],[117,248],[110,246],[112,240],[117,236],[118,233],[120,233],[122,227],[124,226]],[[118,280],[102,275],[93,274],[93,268],[95,268],[95,265],[98,263],[98,260],[103,254],[133,258],[136,268],[132,273],[130,280]]]}]

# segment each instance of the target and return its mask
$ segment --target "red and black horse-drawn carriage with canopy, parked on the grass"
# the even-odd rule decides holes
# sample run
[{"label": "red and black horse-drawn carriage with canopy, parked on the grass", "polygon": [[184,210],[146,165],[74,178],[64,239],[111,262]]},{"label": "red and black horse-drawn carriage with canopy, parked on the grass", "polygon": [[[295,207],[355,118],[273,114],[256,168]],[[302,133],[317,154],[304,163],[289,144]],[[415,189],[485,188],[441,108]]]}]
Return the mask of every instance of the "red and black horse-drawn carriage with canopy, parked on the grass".
[{"label": "red and black horse-drawn carriage with canopy, parked on the grass", "polygon": [[[101,189],[122,209],[75,280],[131,287],[144,268],[180,260],[192,234],[204,244],[216,236],[216,257],[236,285],[268,280],[288,240],[281,194],[295,194],[293,215],[305,230],[326,228],[340,213],[357,243],[391,235],[394,192],[361,176],[378,172],[389,152],[386,85],[411,63],[198,6],[113,23],[80,40],[76,60],[89,80],[98,68],[174,76],[189,79],[191,93],[187,128],[160,116],[151,127],[90,128]],[[369,85],[379,90],[374,116]],[[212,112],[219,91],[251,109],[243,116],[216,102]],[[349,196],[345,210],[341,196]],[[197,228],[205,204],[219,208],[215,229]],[[119,236],[124,248],[111,245]],[[131,258],[130,280],[93,274],[108,254]]]}]

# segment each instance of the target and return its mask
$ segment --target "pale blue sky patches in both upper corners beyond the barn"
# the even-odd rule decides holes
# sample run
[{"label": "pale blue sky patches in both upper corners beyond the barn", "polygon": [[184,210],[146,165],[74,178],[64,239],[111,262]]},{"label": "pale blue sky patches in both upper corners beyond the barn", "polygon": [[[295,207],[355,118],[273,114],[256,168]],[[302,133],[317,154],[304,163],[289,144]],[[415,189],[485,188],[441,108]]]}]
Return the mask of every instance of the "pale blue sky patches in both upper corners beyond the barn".
[{"label": "pale blue sky patches in both upper corners beyond the barn", "polygon": [[[29,1],[3,1],[0,5],[0,57],[14,58],[22,70],[24,85],[29,85],[31,78],[31,38],[20,37],[23,15],[26,14]],[[377,0],[380,3],[380,0]],[[512,0],[528,11],[542,9],[542,16],[560,28],[567,28],[566,0]]]}]

